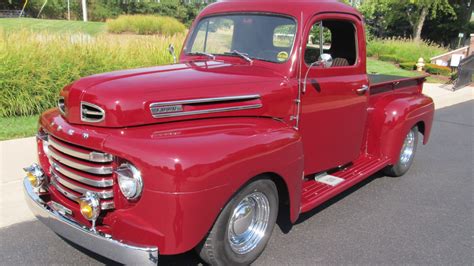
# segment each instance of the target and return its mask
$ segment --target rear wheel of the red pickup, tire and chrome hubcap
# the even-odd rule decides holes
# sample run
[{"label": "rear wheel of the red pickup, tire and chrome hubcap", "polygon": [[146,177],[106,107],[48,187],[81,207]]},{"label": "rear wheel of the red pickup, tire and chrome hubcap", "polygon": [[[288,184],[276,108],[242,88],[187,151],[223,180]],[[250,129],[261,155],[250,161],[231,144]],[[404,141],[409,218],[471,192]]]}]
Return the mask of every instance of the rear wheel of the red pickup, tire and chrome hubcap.
[{"label": "rear wheel of the red pickup, tire and chrome hubcap", "polygon": [[410,169],[415,158],[418,145],[418,127],[413,127],[403,141],[398,162],[385,168],[384,173],[388,176],[398,177],[404,175]]}]

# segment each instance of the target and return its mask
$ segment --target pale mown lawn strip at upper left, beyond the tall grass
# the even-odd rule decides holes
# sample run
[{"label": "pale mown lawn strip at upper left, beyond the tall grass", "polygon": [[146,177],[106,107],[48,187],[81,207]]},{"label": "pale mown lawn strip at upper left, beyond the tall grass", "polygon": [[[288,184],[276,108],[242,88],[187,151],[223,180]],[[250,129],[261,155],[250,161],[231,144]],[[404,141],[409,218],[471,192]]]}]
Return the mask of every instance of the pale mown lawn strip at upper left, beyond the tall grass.
[{"label": "pale mown lawn strip at upper left, beyond the tall grass", "polygon": [[90,35],[96,35],[106,31],[105,23],[102,22],[82,22],[34,18],[1,18],[0,28],[5,29],[7,32],[27,29],[32,31],[47,31],[52,33],[87,33]]}]

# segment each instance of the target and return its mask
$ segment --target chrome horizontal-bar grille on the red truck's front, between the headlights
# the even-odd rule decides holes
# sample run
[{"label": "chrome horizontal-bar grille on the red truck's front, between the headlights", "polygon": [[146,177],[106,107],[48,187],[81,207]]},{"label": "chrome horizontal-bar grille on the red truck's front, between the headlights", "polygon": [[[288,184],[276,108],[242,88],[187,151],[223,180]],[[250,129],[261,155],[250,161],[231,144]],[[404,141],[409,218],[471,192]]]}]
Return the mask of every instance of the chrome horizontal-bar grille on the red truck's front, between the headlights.
[{"label": "chrome horizontal-bar grille on the red truck's front, between the headlights", "polygon": [[73,201],[91,191],[101,199],[103,210],[115,207],[112,155],[79,147],[51,135],[48,143],[51,185],[57,191]]}]

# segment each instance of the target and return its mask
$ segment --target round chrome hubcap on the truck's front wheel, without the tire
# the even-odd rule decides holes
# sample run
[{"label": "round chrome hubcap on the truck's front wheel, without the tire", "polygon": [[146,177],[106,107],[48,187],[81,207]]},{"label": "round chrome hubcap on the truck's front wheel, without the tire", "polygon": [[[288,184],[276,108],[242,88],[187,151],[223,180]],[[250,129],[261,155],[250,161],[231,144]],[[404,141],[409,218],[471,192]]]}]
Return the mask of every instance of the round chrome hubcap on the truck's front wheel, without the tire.
[{"label": "round chrome hubcap on the truck's front wheel, without the tire", "polygon": [[237,254],[254,250],[265,236],[270,218],[270,203],[261,192],[246,196],[235,207],[228,226],[230,247]]}]

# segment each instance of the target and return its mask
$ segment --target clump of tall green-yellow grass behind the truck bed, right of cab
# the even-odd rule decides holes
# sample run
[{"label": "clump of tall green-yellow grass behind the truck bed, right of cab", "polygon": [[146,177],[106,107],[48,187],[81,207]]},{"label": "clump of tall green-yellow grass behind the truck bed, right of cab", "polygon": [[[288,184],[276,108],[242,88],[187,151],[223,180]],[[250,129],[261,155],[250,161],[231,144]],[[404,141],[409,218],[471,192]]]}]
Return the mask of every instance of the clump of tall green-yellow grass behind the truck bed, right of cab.
[{"label": "clump of tall green-yellow grass behind the truck bed, right of cab", "polygon": [[367,56],[396,63],[417,62],[420,57],[429,62],[430,58],[446,52],[448,49],[437,44],[404,38],[373,39],[367,42]]}]

